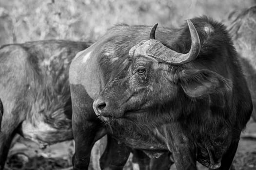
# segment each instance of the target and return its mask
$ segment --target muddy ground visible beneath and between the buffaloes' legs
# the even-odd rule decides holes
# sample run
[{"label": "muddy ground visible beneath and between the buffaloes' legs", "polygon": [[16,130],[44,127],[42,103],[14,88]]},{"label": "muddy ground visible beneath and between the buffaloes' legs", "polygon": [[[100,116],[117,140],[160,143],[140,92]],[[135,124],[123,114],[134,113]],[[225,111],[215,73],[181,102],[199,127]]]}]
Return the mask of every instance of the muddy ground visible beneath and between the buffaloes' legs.
[{"label": "muddy ground visible beneath and between the buffaloes' legs", "polygon": [[[248,134],[254,134],[251,138]],[[95,148],[101,147],[97,143]],[[97,149],[92,152],[92,160],[98,161]],[[74,142],[62,142],[41,150],[39,146],[29,140],[19,138],[12,147],[5,170],[70,170],[74,153]],[[131,157],[124,170],[132,170]],[[239,142],[236,157],[233,162],[235,170],[256,170],[256,122],[250,121]],[[91,170],[98,169],[98,163],[90,165]],[[175,166],[171,170],[176,170]],[[207,170],[198,165],[198,170]]]}]

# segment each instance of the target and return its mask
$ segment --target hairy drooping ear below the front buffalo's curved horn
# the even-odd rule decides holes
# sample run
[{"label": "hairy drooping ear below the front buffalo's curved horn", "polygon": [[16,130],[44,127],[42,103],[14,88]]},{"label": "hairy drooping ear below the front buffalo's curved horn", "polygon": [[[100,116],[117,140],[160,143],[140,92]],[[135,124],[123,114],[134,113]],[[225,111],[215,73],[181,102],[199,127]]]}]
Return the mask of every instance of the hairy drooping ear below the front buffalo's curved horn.
[{"label": "hairy drooping ear below the front buffalo's curved horn", "polygon": [[183,70],[179,73],[178,83],[184,92],[193,98],[232,90],[232,83],[223,76],[210,70]]}]

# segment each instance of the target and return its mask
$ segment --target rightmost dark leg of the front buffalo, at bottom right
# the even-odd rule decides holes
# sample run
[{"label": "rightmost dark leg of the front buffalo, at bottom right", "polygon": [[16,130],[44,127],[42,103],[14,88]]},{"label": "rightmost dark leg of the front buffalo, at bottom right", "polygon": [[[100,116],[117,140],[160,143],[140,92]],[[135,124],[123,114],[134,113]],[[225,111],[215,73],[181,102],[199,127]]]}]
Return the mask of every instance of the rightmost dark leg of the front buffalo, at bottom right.
[{"label": "rightmost dark leg of the front buffalo, at bottom right", "polygon": [[[229,149],[227,150],[227,152],[223,155],[222,160],[221,160],[221,166],[220,168],[216,169],[216,170],[229,170],[231,167],[231,164],[233,162],[233,159],[235,157],[236,154],[236,150],[238,147],[238,142],[233,142]],[[211,170],[211,169],[209,169]]]}]

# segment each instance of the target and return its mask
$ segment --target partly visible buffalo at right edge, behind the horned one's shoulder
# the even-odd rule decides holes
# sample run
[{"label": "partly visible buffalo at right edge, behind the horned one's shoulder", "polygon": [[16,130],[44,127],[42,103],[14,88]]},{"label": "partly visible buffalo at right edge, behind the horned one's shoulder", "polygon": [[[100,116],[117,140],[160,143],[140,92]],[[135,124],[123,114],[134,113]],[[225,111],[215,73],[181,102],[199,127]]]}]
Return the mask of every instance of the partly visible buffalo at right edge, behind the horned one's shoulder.
[{"label": "partly visible buffalo at right edge, behind the horned one's shoulder", "polygon": [[[243,10],[231,21],[228,31],[240,56],[253,105],[256,106],[256,6]],[[255,108],[252,117],[256,121]]]}]

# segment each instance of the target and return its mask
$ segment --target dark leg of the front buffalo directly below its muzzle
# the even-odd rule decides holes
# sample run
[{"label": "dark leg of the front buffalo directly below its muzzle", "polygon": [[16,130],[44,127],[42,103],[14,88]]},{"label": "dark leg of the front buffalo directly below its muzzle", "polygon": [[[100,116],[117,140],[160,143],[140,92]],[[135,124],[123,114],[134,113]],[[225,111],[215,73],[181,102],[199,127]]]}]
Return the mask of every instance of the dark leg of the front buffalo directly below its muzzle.
[{"label": "dark leg of the front buffalo directly below its muzzle", "polygon": [[110,135],[107,141],[107,147],[99,160],[101,170],[122,170],[130,155],[130,148],[119,144]]}]

